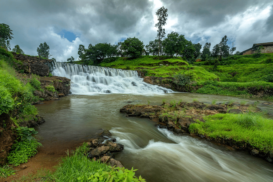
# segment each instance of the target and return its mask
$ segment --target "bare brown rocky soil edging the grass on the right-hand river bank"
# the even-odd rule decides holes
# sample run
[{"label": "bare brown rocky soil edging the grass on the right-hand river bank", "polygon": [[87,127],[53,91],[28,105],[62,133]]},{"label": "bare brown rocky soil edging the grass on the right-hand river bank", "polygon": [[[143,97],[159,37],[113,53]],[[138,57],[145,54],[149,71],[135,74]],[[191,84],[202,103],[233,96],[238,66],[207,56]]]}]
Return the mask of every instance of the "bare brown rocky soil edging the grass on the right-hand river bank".
[{"label": "bare brown rocky soil edging the grass on the right-hand river bank", "polygon": [[[163,103],[161,106],[150,105],[126,105],[120,109],[120,112],[127,113],[127,116],[148,117],[157,122],[162,128],[167,128],[175,133],[190,133],[189,126],[197,120],[206,122],[204,116],[214,115],[217,113],[233,113],[244,114],[248,112],[259,112],[259,108],[253,105],[241,105],[240,103],[226,103],[207,105],[202,102],[180,102]],[[190,133],[191,135],[198,135],[201,138],[206,138],[209,141],[221,143],[231,146],[235,150],[246,150],[251,155],[261,157],[268,162],[273,162],[273,158],[269,153],[265,153],[247,142],[237,142],[233,139],[224,139],[221,137],[212,138],[198,133]]]}]

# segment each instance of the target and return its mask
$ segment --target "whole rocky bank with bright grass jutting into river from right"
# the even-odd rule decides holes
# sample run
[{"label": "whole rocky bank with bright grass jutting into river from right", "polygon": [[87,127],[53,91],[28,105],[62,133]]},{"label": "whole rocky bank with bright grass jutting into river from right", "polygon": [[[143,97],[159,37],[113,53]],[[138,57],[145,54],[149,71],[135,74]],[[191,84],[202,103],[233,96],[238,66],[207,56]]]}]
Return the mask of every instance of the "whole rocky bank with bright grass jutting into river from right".
[{"label": "whole rocky bank with bright grass jutting into river from right", "polygon": [[208,105],[198,101],[163,101],[161,106],[126,105],[120,109],[128,116],[148,117],[175,133],[190,133],[236,150],[246,150],[272,163],[273,123],[259,111],[256,104]]}]

